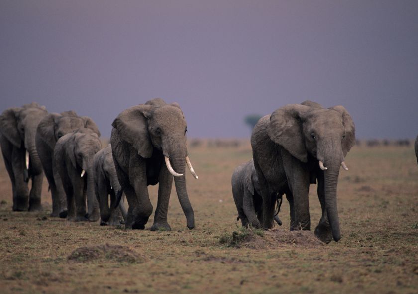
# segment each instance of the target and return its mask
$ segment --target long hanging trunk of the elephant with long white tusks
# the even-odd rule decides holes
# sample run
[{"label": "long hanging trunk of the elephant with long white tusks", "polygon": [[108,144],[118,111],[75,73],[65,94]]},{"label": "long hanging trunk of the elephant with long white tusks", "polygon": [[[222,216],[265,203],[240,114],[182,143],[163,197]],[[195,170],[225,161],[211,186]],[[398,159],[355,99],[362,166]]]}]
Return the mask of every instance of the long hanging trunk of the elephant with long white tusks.
[{"label": "long hanging trunk of the elephant with long white tusks", "polygon": [[186,189],[186,140],[184,140],[184,137],[179,137],[179,139],[171,138],[170,141],[168,146],[175,147],[168,152],[171,166],[176,173],[182,174],[181,176],[174,177],[177,197],[179,198],[180,205],[186,215],[187,227],[193,229],[195,227],[195,215]]}]

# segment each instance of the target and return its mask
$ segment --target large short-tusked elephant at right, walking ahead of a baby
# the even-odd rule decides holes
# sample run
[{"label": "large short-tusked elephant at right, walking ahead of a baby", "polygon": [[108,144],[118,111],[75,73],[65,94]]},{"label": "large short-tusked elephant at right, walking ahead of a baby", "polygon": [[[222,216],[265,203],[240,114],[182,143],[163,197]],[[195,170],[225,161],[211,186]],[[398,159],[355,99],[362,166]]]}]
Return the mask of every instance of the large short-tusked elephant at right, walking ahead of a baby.
[{"label": "large short-tusked elephant at right, walking ahead of a baby", "polygon": [[[262,187],[261,225],[269,228],[275,195],[286,194],[291,230],[310,230],[308,192],[318,183],[322,217],[315,235],[328,243],[341,238],[337,212],[337,183],[341,162],[355,143],[355,127],[343,106],[322,108],[317,103],[285,105],[261,118],[253,129],[254,166]],[[318,160],[328,169],[322,171]]]}]

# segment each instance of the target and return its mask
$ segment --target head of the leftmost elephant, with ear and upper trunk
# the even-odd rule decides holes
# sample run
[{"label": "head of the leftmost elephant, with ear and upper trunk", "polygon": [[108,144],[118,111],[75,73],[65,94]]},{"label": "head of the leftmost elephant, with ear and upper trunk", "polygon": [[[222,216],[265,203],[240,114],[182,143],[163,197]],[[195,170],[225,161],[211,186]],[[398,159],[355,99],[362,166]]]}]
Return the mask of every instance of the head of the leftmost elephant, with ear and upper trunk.
[{"label": "head of the leftmost elephant, with ear and upper trunk", "polygon": [[30,162],[34,174],[42,172],[35,145],[36,127],[47,114],[45,106],[33,102],[22,107],[6,109],[0,116],[1,134],[13,146],[26,149],[26,169],[29,168]]}]

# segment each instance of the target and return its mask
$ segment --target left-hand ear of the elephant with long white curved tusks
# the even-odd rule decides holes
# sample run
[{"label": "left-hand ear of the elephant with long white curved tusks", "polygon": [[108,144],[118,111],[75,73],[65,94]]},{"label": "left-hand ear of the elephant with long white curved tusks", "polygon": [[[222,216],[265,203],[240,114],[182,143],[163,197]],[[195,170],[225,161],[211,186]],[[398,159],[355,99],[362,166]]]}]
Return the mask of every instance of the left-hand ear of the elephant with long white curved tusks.
[{"label": "left-hand ear of the elephant with long white curved tusks", "polygon": [[140,104],[122,111],[113,121],[112,126],[120,137],[132,145],[141,157],[152,156],[152,143],[148,134],[147,118],[152,105]]}]

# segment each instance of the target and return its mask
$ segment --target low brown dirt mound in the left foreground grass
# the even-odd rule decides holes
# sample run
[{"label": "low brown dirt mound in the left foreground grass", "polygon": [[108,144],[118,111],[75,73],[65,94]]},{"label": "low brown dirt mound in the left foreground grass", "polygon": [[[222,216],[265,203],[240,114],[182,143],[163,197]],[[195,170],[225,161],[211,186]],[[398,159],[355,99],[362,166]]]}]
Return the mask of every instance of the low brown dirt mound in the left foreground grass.
[{"label": "low brown dirt mound in the left foreground grass", "polygon": [[98,261],[143,263],[147,261],[145,256],[136,253],[128,246],[110,244],[79,247],[67,259],[82,263]]}]

